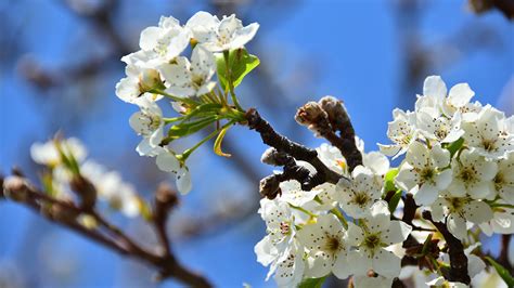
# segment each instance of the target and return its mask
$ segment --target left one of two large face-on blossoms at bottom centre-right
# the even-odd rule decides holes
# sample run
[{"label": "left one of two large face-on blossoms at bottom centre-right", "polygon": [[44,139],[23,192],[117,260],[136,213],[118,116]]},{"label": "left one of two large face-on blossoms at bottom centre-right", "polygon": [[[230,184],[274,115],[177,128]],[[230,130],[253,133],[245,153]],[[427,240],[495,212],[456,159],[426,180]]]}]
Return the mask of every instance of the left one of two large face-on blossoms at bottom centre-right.
[{"label": "left one of two large face-on blossoms at bottom centre-right", "polygon": [[305,225],[298,232],[298,241],[308,249],[308,277],[322,277],[334,273],[340,279],[350,275],[347,261],[347,234],[333,214],[318,217],[313,224]]}]

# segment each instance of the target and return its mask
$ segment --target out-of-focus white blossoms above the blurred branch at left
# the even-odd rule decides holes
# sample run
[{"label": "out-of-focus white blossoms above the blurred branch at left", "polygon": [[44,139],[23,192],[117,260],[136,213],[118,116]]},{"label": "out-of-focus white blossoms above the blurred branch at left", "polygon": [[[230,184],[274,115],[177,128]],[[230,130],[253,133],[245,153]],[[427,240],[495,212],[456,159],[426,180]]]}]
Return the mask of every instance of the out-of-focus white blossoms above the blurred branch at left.
[{"label": "out-of-focus white blossoms above the blurred branch at left", "polygon": [[99,200],[110,208],[129,218],[140,215],[144,201],[136,188],[125,182],[119,172],[110,171],[97,161],[86,159],[87,154],[83,144],[75,138],[36,142],[30,147],[33,160],[47,168],[41,180],[50,196],[72,200],[74,194],[70,183],[75,173],[79,173],[94,185]]}]

